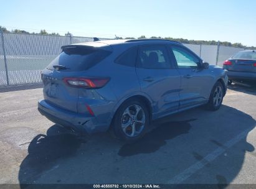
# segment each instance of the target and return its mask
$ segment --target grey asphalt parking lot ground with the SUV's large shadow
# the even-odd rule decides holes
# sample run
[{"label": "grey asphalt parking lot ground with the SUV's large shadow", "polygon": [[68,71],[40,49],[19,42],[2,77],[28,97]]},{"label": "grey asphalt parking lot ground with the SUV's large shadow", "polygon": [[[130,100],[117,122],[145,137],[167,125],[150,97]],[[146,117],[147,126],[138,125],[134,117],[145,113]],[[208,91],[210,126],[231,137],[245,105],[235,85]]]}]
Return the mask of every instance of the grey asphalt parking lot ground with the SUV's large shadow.
[{"label": "grey asphalt parking lot ground with the SUV's large shadow", "polygon": [[230,86],[218,111],[154,121],[135,144],[77,136],[39,114],[41,98],[42,88],[0,93],[0,183],[256,184],[253,87]]}]

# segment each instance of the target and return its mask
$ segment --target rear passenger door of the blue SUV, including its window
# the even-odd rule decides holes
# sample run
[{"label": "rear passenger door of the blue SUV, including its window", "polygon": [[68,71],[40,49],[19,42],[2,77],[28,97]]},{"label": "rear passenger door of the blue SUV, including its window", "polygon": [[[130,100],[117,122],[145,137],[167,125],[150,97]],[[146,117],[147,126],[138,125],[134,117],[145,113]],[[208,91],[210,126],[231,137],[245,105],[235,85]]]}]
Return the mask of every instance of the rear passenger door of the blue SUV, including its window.
[{"label": "rear passenger door of the blue SUV, including its window", "polygon": [[166,45],[141,45],[136,73],[141,91],[153,101],[153,118],[178,111],[181,76],[170,61]]}]

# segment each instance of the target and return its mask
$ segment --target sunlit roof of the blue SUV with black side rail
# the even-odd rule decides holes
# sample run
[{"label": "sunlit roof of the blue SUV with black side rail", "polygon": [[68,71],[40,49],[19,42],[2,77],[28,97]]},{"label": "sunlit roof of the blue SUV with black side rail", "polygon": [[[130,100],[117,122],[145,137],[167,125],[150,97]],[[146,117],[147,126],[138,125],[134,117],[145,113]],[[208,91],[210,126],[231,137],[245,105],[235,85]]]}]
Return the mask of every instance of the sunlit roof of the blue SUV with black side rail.
[{"label": "sunlit roof of the blue SUV with black side rail", "polygon": [[93,46],[93,47],[104,47],[108,45],[120,45],[120,44],[127,44],[127,43],[135,43],[135,44],[157,44],[159,42],[169,43],[169,44],[181,44],[180,42],[176,42],[174,40],[166,40],[166,39],[113,39],[113,40],[98,40],[95,42],[85,42],[79,44],[72,44],[72,45],[86,45],[86,46]]}]

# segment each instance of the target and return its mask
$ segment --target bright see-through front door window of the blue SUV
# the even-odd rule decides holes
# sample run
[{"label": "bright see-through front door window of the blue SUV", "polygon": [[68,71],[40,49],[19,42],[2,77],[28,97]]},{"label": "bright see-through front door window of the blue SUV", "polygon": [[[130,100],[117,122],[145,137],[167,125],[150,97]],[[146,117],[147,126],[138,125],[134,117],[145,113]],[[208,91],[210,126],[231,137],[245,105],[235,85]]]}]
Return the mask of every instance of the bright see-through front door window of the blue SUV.
[{"label": "bright see-through front door window of the blue SUV", "polygon": [[197,64],[200,62],[199,58],[184,48],[171,48],[173,50],[174,57],[176,58],[178,68],[197,68]]}]

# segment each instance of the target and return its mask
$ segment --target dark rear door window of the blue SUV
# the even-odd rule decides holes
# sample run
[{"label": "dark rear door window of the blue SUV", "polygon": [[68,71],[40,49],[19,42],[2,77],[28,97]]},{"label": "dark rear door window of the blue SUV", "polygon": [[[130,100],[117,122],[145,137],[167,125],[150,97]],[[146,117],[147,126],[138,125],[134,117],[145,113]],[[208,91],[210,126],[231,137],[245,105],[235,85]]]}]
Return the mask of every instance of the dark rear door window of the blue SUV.
[{"label": "dark rear door window of the blue SUV", "polygon": [[171,68],[164,45],[143,45],[138,50],[137,67],[149,69]]}]

